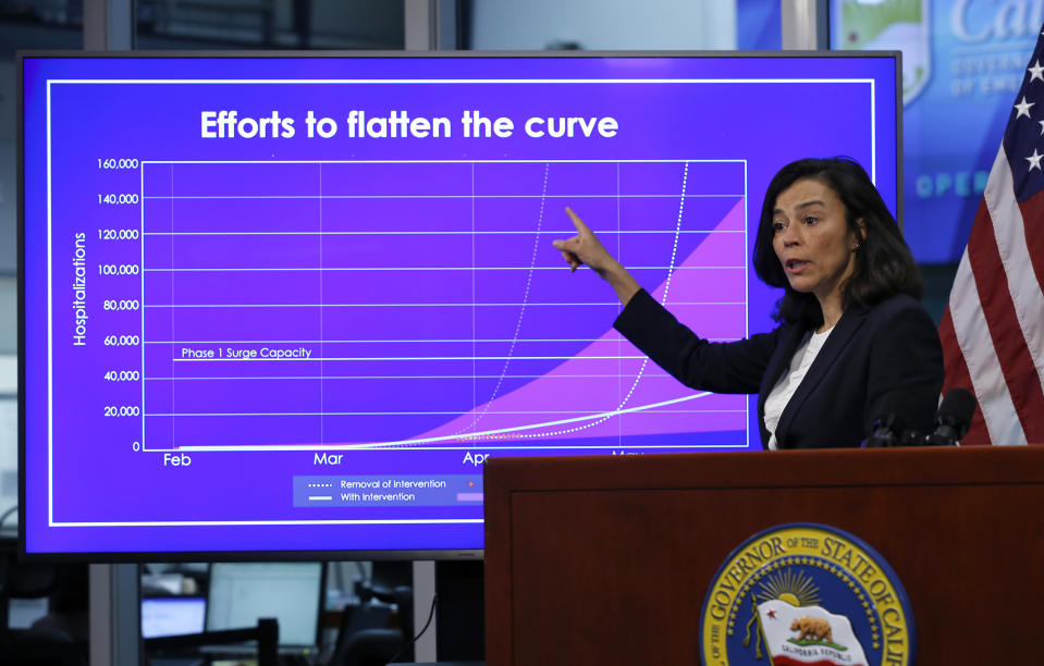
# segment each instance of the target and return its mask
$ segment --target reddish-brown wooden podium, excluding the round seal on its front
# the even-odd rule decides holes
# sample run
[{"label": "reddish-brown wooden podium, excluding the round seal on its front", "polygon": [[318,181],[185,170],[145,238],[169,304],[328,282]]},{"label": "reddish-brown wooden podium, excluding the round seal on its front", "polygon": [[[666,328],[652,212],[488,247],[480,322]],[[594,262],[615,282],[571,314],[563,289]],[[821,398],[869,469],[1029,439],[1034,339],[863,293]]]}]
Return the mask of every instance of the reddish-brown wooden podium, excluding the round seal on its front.
[{"label": "reddish-brown wooden podium, excluding the round seal on its front", "polygon": [[700,664],[715,574],[789,522],[892,565],[917,664],[1044,661],[1044,447],[493,458],[484,494],[491,666]]}]

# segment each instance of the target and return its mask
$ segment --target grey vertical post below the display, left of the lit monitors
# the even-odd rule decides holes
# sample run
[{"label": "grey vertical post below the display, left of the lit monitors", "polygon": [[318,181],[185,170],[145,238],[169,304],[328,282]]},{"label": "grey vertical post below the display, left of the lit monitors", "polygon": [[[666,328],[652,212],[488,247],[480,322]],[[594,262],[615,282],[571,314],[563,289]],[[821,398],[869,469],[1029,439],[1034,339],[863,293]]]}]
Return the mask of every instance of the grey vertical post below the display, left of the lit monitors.
[{"label": "grey vertical post below the display, left of the lit monitors", "polygon": [[142,633],[138,565],[90,565],[90,666],[136,666]]}]

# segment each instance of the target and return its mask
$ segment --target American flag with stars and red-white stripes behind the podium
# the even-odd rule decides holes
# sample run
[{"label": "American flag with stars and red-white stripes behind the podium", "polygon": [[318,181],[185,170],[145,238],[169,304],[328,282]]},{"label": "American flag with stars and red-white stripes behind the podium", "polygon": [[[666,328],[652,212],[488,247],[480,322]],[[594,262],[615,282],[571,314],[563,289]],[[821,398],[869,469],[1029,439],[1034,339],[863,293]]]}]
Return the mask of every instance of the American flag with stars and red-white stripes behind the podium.
[{"label": "American flag with stars and red-white stripes behind the podium", "polygon": [[1044,444],[1044,27],[1030,63],[939,323],[965,444]]}]

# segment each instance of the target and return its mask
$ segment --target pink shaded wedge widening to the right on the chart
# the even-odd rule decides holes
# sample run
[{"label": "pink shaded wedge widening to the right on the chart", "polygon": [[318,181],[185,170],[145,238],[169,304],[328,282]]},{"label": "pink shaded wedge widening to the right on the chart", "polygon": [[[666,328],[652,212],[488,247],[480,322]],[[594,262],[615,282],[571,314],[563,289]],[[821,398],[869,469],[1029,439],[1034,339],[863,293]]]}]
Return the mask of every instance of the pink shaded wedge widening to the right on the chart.
[{"label": "pink shaded wedge widening to the right on the chart", "polygon": [[[715,231],[742,229],[744,225],[745,202],[740,200],[715,226]],[[686,257],[678,268],[735,266],[740,259],[746,263],[742,234],[712,234]],[[700,291],[697,288],[699,281],[708,279],[714,279],[713,272],[676,270],[670,279],[670,285],[666,281],[661,283],[652,295],[656,300],[664,301],[663,296],[666,291],[667,306],[675,300],[690,300],[692,294]],[[745,305],[725,307],[735,308],[736,320],[734,321],[744,321]],[[720,316],[723,306],[686,306],[680,308],[686,316],[679,319],[683,322],[688,320],[696,323],[700,319],[699,311],[704,308]],[[736,326],[728,328],[736,329]],[[733,336],[741,336],[744,333],[741,329],[742,323],[739,323]],[[623,358],[619,360],[597,358],[612,353]],[[569,377],[582,374],[601,377],[594,379]],[[605,375],[612,377],[605,378]],[[639,377],[637,382],[636,377]],[[577,353],[574,358],[566,360],[544,377],[480,405],[439,428],[419,434],[416,439],[458,435],[463,440],[470,433],[518,429],[532,423],[533,417],[548,421],[564,420],[575,418],[578,414],[603,414],[695,395],[696,392],[681,385],[674,378],[667,377],[652,361],[646,360],[641,351],[623,340],[614,330],[610,330]],[[746,427],[745,408],[746,396],[707,395],[637,412],[514,430],[512,440],[524,442],[549,436],[573,439],[742,430]],[[693,412],[693,410],[698,411]],[[555,415],[561,417],[556,418]],[[474,441],[483,441],[483,437],[480,435]]]}]

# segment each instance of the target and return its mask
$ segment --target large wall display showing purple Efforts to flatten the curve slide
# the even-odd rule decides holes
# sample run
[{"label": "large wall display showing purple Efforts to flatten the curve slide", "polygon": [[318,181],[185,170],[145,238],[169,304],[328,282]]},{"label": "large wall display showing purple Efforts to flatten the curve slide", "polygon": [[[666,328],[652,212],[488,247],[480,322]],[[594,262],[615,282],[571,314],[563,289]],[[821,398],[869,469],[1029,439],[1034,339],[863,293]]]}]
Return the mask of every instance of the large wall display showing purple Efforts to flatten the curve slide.
[{"label": "large wall display showing purple Efforts to flatten the curve slide", "polygon": [[20,64],[30,554],[475,554],[490,456],[760,448],[613,331],[565,208],[716,341],[773,326],[783,164],[897,209],[894,53]]}]

